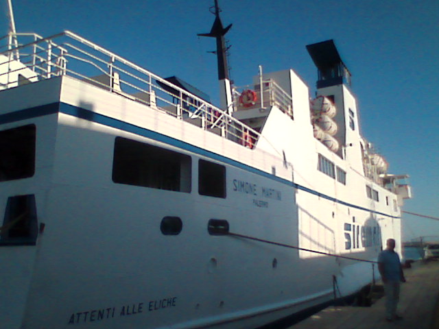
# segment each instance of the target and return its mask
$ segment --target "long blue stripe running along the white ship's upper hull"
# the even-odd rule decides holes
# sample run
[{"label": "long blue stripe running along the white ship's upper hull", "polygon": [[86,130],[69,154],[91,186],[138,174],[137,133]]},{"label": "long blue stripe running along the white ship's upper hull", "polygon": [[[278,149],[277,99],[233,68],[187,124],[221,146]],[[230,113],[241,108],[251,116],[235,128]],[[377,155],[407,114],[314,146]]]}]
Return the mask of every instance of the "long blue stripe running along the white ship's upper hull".
[{"label": "long blue stripe running along the white ship's upper hull", "polygon": [[311,188],[307,188],[305,186],[301,186],[299,184],[296,184],[294,182],[290,182],[289,180],[285,180],[280,177],[276,177],[275,175],[272,175],[270,173],[266,173],[265,171],[261,171],[259,169],[253,168],[248,166],[247,164],[238,162],[236,160],[227,158],[225,156],[221,156],[219,154],[213,153],[211,151],[207,151],[206,149],[202,149],[201,147],[197,147],[194,145],[191,145],[189,143],[185,143],[183,141],[180,141],[176,138],[172,138],[169,136],[165,136],[163,134],[160,134],[158,132],[154,132],[152,130],[148,130],[142,127],[139,127],[137,125],[132,125],[131,123],[126,123],[117,119],[113,119],[110,117],[106,117],[105,115],[95,113],[91,110],[86,110],[84,108],[80,108],[78,106],[72,106],[67,103],[51,103],[44,106],[36,106],[34,108],[27,108],[25,110],[19,110],[16,112],[11,112],[7,114],[1,114],[0,115],[0,124],[3,123],[11,123],[14,121],[21,121],[25,119],[32,119],[36,117],[43,117],[48,114],[54,114],[56,112],[61,112],[64,114],[69,114],[73,117],[77,117],[80,119],[84,119],[87,121],[100,123],[102,125],[106,125],[108,127],[113,127],[119,130],[123,130],[125,132],[131,132],[132,134],[137,134],[139,136],[151,138],[154,141],[159,141],[166,143],[168,145],[172,145],[174,147],[178,147],[180,149],[185,149],[187,151],[193,152],[195,154],[198,154],[200,156],[206,156],[208,158],[211,158],[213,160],[218,160],[227,164],[230,164],[233,167],[237,167],[239,169],[244,169],[246,171],[250,171],[251,173],[255,173],[257,175],[261,175],[265,178],[269,178],[270,180],[275,180],[276,182],[280,182],[282,184],[286,184],[289,186],[293,186],[294,188],[297,188],[298,190],[305,191],[307,193],[311,193],[313,195],[317,195],[318,197],[322,197],[324,199],[328,199],[332,202],[337,202],[338,204],[342,204],[344,206],[356,208],[359,210],[364,210],[367,212],[372,212],[377,215],[383,215],[387,217],[392,218],[400,218],[397,216],[392,216],[385,214],[383,212],[379,212],[377,210],[372,210],[368,208],[364,208],[361,206],[356,206],[355,204],[350,204],[348,202],[344,202],[342,200],[336,199],[335,197],[330,197],[329,195],[325,195],[322,193],[319,193],[317,191],[312,190]]}]

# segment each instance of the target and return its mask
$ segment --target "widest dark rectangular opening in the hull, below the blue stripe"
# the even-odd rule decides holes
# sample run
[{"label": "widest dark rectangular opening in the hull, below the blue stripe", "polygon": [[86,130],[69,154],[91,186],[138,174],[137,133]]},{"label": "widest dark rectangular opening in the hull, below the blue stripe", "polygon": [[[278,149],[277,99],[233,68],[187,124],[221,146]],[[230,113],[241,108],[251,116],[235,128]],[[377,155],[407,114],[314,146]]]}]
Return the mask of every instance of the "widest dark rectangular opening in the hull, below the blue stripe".
[{"label": "widest dark rectangular opening in the hull, below the blue stripe", "polygon": [[191,157],[116,137],[112,180],[119,184],[191,192]]}]

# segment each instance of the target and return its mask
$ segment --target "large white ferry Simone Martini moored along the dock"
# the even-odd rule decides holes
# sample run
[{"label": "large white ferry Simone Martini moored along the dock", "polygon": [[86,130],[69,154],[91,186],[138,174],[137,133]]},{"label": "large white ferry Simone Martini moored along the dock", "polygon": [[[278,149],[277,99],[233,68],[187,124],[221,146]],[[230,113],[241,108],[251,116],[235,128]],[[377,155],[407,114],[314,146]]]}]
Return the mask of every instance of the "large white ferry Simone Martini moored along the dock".
[{"label": "large white ferry Simone Martini moored along the dock", "polygon": [[239,87],[213,14],[219,106],[73,32],[2,38],[2,328],[257,328],[378,280],[412,193],[335,42],[306,47],[315,97]]}]

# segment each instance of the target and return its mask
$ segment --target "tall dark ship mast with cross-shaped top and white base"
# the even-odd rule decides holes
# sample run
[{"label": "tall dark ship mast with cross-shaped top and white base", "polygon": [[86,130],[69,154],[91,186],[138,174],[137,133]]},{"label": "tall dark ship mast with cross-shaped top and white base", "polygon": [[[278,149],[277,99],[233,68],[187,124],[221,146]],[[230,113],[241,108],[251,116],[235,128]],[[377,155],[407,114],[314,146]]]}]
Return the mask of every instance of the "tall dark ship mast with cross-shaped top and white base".
[{"label": "tall dark ship mast with cross-shaped top and white base", "polygon": [[215,53],[217,55],[218,64],[219,99],[221,108],[227,109],[230,113],[233,111],[232,88],[228,76],[227,47],[224,36],[230,27],[232,27],[232,24],[228,25],[226,28],[223,27],[222,21],[219,18],[219,12],[221,10],[218,6],[218,0],[215,0],[215,5],[212,9],[215,10],[215,12],[213,12],[213,14],[215,14],[215,21],[213,22],[211,32],[198,34],[198,36],[209,36],[215,38],[217,41],[217,50]]}]

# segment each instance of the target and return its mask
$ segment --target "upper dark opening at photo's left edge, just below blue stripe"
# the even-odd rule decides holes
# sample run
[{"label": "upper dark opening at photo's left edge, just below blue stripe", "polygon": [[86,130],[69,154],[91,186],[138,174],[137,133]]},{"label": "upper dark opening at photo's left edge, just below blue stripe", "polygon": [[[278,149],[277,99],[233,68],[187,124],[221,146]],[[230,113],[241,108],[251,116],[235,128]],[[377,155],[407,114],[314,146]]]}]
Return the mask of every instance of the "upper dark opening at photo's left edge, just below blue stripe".
[{"label": "upper dark opening at photo's left edge, just below blue stripe", "polygon": [[0,182],[34,175],[35,143],[35,125],[0,132]]}]

